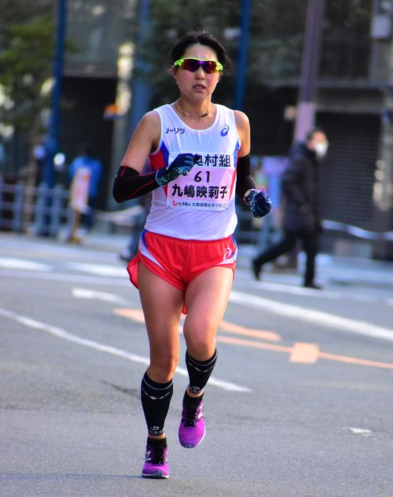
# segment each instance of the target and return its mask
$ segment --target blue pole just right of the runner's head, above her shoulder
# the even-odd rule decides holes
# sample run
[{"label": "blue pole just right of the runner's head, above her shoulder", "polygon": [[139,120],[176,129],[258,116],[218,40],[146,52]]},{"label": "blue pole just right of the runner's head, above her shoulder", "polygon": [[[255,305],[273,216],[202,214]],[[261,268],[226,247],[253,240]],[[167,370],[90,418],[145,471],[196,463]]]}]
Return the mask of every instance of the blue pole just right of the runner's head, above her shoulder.
[{"label": "blue pole just right of the runner's head, above her shoulder", "polygon": [[251,0],[242,0],[242,22],[237,52],[237,67],[235,81],[235,103],[237,110],[242,110],[244,104],[244,90],[247,80],[247,54],[249,44],[249,18],[251,16]]}]

